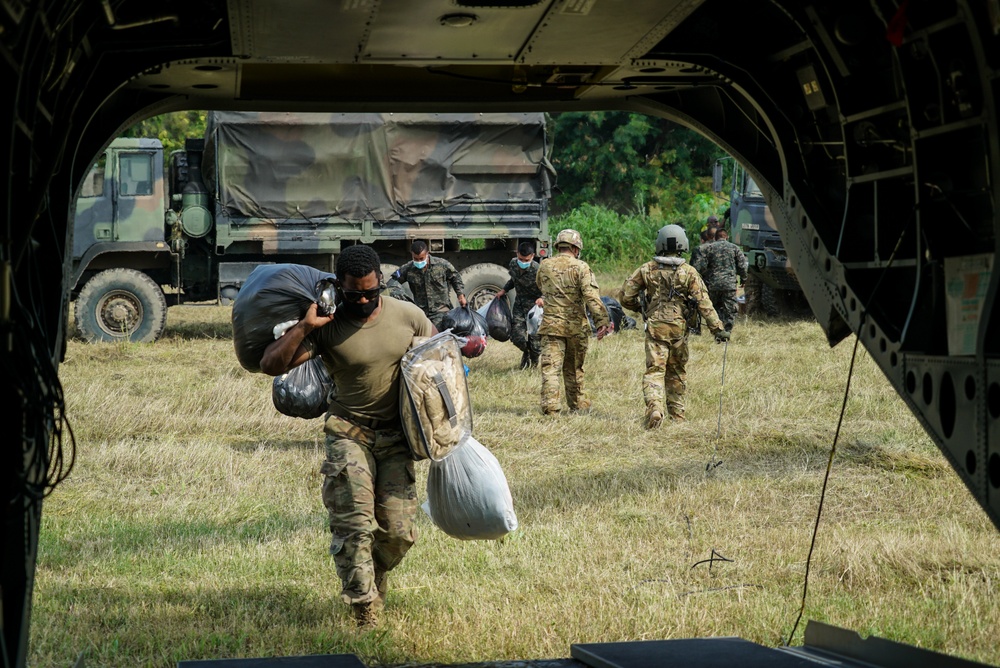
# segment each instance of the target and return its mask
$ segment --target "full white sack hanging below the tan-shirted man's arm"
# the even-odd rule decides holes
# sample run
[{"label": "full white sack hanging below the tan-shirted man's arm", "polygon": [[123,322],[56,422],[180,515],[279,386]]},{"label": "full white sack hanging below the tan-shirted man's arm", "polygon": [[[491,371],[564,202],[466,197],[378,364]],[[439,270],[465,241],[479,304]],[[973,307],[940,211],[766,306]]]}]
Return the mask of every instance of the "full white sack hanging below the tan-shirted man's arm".
[{"label": "full white sack hanging below the tan-shirted man's arm", "polygon": [[500,462],[471,436],[444,459],[431,460],[421,508],[453,538],[495,540],[517,529]]}]

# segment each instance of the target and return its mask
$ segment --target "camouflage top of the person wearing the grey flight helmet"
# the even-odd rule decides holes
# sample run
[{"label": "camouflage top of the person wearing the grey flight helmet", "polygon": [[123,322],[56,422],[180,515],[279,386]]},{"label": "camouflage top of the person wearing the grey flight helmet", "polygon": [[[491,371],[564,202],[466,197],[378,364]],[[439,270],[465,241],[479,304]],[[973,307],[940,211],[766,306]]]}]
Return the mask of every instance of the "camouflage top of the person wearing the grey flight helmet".
[{"label": "camouflage top of the person wearing the grey flight helmet", "polygon": [[622,306],[641,311],[645,292],[646,334],[666,341],[687,333],[689,303],[696,304],[712,333],[722,329],[701,276],[680,257],[655,258],[642,265],[622,286]]}]

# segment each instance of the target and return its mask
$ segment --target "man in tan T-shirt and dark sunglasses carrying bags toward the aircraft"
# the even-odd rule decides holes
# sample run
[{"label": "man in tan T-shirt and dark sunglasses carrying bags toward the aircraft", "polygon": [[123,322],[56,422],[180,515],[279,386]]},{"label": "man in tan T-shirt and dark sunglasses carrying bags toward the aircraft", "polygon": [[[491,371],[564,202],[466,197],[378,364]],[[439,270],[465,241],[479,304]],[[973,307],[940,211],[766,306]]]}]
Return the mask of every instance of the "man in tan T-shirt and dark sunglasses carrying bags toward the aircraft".
[{"label": "man in tan T-shirt and dark sunglasses carrying bags toward the aircraft", "polygon": [[348,246],[337,257],[341,305],[312,304],[264,351],[260,368],[278,376],[320,356],[337,386],[324,423],[320,472],[330,553],[357,623],[371,627],[385,602],[388,573],[417,539],[413,460],[399,415],[399,362],[413,337],[434,326],[414,306],[380,296],[378,253]]}]

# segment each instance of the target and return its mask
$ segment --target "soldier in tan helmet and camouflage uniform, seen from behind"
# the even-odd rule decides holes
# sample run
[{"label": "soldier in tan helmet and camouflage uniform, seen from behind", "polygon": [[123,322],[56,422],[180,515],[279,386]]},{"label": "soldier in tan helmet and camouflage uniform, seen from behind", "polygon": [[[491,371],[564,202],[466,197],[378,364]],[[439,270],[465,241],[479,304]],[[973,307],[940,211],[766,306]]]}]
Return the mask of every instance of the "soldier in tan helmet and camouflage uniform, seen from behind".
[{"label": "soldier in tan helmet and camouflage uniform, seen from behind", "polygon": [[[583,362],[587,356],[591,329],[587,313],[597,326],[597,340],[611,331],[608,309],[601,301],[597,279],[590,266],[580,260],[583,238],[566,229],[556,236],[555,257],[538,268],[536,283],[542,293],[542,413],[557,415],[562,410],[561,386],[566,387],[570,410],[587,411],[591,401],[583,385]],[[562,376],[562,379],[560,379]]]}]

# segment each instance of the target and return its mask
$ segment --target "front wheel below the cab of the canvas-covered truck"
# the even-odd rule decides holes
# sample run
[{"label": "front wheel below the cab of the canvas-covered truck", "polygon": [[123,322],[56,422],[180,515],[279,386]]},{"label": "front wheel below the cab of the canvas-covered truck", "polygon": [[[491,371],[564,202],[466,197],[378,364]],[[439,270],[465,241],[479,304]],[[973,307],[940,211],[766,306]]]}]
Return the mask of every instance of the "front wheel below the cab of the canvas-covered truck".
[{"label": "front wheel below the cab of the canvas-covered truck", "polygon": [[76,327],[89,343],[152,343],[166,325],[163,291],[141,271],[106,269],[87,281],[76,298]]}]

